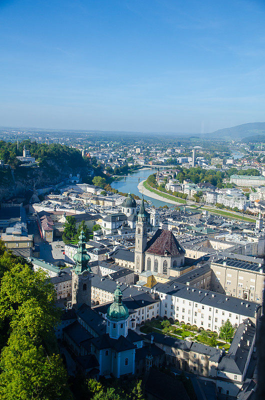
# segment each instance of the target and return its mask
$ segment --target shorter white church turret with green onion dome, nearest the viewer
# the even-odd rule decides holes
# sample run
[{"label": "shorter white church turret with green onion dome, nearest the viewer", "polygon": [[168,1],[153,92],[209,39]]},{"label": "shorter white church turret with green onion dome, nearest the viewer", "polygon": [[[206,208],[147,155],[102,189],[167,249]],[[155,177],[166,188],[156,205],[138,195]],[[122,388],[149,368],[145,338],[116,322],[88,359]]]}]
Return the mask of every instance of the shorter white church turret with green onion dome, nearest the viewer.
[{"label": "shorter white church turret with green onion dome, nearest the viewer", "polygon": [[114,301],[107,309],[106,331],[113,339],[118,339],[119,336],[126,337],[128,334],[128,319],[129,311],[126,305],[122,303],[122,293],[119,283],[114,291]]}]

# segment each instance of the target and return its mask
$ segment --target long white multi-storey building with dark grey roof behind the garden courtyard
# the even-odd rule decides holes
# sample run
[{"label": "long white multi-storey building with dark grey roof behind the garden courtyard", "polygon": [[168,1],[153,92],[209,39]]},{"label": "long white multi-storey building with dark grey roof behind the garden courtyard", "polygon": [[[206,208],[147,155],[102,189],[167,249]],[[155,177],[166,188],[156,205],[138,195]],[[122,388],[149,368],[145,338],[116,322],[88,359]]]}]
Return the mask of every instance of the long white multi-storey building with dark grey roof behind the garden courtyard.
[{"label": "long white multi-storey building with dark grey roof behind the garden courtyard", "polygon": [[190,287],[175,281],[157,283],[148,290],[157,293],[161,299],[161,317],[217,333],[227,319],[236,327],[246,318],[256,323],[261,310],[261,306],[253,301]]}]

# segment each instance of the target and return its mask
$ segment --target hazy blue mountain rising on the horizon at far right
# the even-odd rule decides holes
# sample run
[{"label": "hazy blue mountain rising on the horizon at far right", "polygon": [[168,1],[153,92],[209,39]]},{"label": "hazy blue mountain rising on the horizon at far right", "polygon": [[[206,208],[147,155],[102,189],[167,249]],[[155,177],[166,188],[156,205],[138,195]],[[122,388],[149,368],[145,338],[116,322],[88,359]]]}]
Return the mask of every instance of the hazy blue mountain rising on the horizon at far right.
[{"label": "hazy blue mountain rising on the horizon at far right", "polygon": [[[232,126],[230,128],[223,128],[215,130],[211,133],[206,133],[206,137],[234,137],[238,139],[249,138],[254,139],[256,137],[262,137],[265,135],[265,122],[249,122],[243,123],[242,125]],[[265,136],[263,136],[263,140]],[[261,139],[262,140],[262,139]]]}]

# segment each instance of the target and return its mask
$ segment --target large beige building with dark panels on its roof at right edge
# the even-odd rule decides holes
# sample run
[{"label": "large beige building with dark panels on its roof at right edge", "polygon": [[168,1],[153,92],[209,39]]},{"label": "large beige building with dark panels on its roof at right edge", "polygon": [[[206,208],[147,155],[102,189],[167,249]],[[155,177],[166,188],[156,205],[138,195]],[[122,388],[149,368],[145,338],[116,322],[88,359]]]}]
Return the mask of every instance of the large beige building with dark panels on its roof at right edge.
[{"label": "large beige building with dark panels on its roof at right edge", "polygon": [[264,264],[260,258],[232,255],[212,260],[211,289],[257,303],[262,302]]}]

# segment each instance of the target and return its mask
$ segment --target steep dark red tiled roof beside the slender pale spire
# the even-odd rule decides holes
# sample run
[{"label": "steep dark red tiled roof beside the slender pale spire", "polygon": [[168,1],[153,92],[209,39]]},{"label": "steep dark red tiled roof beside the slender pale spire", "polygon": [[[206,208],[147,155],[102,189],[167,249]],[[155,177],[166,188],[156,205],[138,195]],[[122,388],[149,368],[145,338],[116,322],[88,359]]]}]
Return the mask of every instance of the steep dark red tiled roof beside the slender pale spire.
[{"label": "steep dark red tiled roof beside the slender pale spire", "polygon": [[173,233],[170,230],[162,229],[157,229],[151,240],[148,241],[145,251],[156,255],[164,255],[165,251],[168,255],[185,253]]}]

